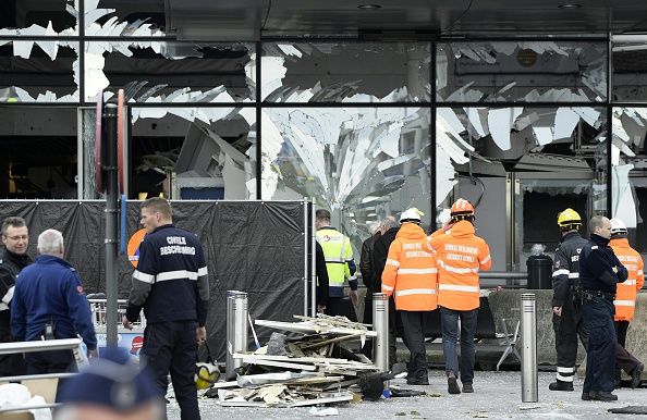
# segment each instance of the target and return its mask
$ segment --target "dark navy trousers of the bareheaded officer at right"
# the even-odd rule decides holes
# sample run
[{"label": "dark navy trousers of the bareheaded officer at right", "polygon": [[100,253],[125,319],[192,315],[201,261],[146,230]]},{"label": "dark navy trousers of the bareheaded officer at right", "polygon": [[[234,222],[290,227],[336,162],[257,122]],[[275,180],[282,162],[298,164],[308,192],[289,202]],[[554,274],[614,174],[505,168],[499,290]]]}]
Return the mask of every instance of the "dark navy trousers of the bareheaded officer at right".
[{"label": "dark navy trousers of the bareheaded officer at right", "polygon": [[617,345],[613,313],[613,300],[603,297],[584,300],[582,306],[582,317],[588,330],[586,378],[582,390],[585,393],[613,391]]}]

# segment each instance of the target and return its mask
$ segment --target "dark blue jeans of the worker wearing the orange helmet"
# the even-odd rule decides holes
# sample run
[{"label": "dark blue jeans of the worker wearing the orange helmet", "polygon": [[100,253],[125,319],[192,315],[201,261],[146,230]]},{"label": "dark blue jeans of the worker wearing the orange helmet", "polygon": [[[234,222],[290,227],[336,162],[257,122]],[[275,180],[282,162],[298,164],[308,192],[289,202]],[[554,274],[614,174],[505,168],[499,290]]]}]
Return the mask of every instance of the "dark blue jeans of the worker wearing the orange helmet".
[{"label": "dark blue jeans of the worker wearing the orange helmet", "polygon": [[472,383],[474,380],[474,334],[478,309],[453,310],[440,308],[442,325],[442,353],[444,354],[444,371],[447,375],[459,376],[459,318],[461,319],[461,382]]}]

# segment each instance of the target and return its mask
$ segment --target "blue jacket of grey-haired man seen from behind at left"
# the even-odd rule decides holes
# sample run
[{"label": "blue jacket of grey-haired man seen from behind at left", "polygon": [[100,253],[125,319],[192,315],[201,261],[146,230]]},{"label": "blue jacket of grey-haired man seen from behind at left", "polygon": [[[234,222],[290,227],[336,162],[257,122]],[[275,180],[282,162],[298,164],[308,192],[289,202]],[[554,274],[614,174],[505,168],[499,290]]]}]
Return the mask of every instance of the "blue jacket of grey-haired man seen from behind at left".
[{"label": "blue jacket of grey-haired man seen from behind at left", "polygon": [[88,349],[97,348],[89,304],[76,270],[65,260],[42,255],[16,277],[11,333],[19,342],[40,339],[50,320],[57,338],[80,334]]}]

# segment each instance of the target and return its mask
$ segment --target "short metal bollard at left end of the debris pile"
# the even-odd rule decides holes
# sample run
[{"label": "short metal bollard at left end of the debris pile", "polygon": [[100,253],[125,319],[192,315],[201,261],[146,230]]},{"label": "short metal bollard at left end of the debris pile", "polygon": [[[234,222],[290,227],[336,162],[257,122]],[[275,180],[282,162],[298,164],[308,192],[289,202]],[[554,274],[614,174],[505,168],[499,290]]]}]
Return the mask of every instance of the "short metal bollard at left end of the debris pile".
[{"label": "short metal bollard at left end of the debris pile", "polygon": [[234,359],[234,353],[247,351],[247,294],[245,292],[227,292],[227,379],[235,378],[234,370],[243,365]]}]

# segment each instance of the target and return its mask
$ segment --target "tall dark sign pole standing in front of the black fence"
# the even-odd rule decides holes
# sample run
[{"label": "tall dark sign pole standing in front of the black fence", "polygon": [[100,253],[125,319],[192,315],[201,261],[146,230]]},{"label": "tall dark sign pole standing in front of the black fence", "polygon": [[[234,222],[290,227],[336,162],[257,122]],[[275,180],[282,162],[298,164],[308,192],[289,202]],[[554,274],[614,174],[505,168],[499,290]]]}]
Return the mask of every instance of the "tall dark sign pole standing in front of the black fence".
[{"label": "tall dark sign pole standing in front of the black fence", "polygon": [[103,141],[106,141],[105,150],[107,159],[105,160],[106,173],[106,343],[110,346],[117,346],[117,323],[118,307],[117,307],[117,227],[118,227],[118,160],[117,160],[117,106],[108,103],[103,108],[105,127]]}]

